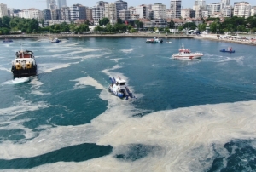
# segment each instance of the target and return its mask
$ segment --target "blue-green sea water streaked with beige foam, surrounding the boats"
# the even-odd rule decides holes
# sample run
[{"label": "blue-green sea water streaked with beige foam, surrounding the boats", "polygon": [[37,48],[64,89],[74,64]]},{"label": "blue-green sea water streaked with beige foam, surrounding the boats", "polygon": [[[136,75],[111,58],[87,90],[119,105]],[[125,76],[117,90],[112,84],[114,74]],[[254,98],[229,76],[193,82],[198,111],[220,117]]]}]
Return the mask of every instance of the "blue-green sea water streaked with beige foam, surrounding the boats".
[{"label": "blue-green sea water streaked with beige foam, surrounding the boats", "polygon": [[[13,79],[20,43],[38,76]],[[172,59],[181,43],[204,56]],[[0,49],[0,170],[256,171],[253,46],[79,37]],[[137,99],[109,93],[109,77]]]}]

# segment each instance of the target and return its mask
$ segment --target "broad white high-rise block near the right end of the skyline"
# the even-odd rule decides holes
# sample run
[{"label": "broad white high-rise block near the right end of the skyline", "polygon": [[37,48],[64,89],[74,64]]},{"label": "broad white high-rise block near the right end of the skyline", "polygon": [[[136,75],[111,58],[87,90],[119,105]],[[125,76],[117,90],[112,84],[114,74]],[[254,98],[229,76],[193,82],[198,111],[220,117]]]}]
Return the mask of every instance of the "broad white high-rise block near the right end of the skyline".
[{"label": "broad white high-rise block near the right end of the skyline", "polygon": [[247,2],[234,3],[234,14],[233,16],[238,17],[250,17],[251,16],[251,5]]}]

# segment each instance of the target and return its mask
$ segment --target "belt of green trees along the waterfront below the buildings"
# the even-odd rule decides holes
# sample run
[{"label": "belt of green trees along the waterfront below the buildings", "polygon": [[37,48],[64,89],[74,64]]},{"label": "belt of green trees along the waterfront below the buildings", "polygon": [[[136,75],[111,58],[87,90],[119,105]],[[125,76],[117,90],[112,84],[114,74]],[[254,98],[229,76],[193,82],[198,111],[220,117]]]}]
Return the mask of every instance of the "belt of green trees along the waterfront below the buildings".
[{"label": "belt of green trees along the waterfront below the buildings", "polygon": [[[224,33],[224,32],[256,32],[256,16],[248,17],[232,17],[226,18],[223,22],[219,18],[208,18],[206,21],[212,21],[207,26],[204,22],[199,26],[196,26],[194,22],[187,22],[183,26],[176,26],[173,20],[168,23],[166,28],[149,28],[151,31],[159,30],[169,32],[170,28],[177,28],[179,31],[183,29],[195,30],[198,28],[199,31],[205,31],[208,27],[210,32],[213,33]],[[9,34],[10,31],[21,31],[26,33],[61,33],[61,32],[89,32],[88,21],[80,24],[55,24],[52,26],[40,27],[39,23],[44,26],[44,20],[24,19],[24,18],[9,18],[4,16],[0,18],[0,34]],[[118,19],[118,22],[114,25],[109,23],[108,18],[103,18],[99,21],[100,26],[95,27],[95,32],[137,32],[137,30],[143,30],[143,23],[139,20],[134,22],[123,23],[122,20]]]}]

